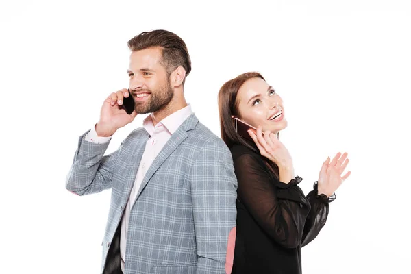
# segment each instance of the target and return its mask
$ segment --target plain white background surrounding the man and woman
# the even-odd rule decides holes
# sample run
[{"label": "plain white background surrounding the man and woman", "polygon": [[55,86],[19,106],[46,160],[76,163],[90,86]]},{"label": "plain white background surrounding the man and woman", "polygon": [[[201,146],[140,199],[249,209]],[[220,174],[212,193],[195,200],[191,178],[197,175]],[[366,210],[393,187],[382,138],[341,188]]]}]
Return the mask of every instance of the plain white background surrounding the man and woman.
[{"label": "plain white background surrounding the man and woman", "polygon": [[349,152],[304,273],[410,273],[410,26],[409,1],[1,1],[1,273],[99,273],[110,190],[77,197],[64,181],[78,136],[127,87],[127,40],[151,29],[188,45],[186,98],[218,136],[221,85],[266,77],[306,193]]}]

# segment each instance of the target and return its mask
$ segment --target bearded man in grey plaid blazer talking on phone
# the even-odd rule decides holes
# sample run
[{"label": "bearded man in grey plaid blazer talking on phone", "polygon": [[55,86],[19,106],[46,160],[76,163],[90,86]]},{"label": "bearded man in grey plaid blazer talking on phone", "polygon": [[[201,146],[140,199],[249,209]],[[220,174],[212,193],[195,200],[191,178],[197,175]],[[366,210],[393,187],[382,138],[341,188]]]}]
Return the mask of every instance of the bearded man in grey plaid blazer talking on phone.
[{"label": "bearded man in grey plaid blazer talking on phone", "polygon": [[[79,138],[66,182],[77,195],[112,188],[101,273],[229,273],[236,176],[229,149],[184,98],[186,44],[155,30],[127,45],[129,92],[105,99],[98,123]],[[122,107],[129,96],[130,115]],[[143,127],[103,156],[116,130],[146,113]]]}]

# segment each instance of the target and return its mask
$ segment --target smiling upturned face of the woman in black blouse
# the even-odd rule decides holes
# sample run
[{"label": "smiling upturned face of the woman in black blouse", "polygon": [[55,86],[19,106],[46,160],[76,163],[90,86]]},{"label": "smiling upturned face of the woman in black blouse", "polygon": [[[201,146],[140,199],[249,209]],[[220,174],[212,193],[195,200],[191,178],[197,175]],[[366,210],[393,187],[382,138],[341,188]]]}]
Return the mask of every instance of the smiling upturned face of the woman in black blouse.
[{"label": "smiling upturned face of the woman in black blouse", "polygon": [[237,100],[238,118],[249,125],[274,133],[287,127],[283,101],[263,79],[248,79],[238,90]]}]

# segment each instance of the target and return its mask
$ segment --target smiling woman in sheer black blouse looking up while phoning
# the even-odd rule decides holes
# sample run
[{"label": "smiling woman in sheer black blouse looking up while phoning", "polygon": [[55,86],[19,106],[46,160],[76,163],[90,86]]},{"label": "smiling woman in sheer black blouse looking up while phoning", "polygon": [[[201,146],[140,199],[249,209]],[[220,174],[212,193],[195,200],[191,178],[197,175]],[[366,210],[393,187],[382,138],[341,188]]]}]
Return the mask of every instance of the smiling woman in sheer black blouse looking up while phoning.
[{"label": "smiling woman in sheer black blouse looking up while phoning", "polygon": [[[260,73],[244,73],[219,92],[221,137],[232,151],[238,179],[237,234],[232,273],[301,273],[301,247],[327,220],[347,153],[327,158],[318,183],[307,195],[298,184],[292,158],[279,142],[287,126],[281,97]],[[235,118],[256,127],[251,138],[236,132]],[[263,134],[264,132],[264,134]]]}]

